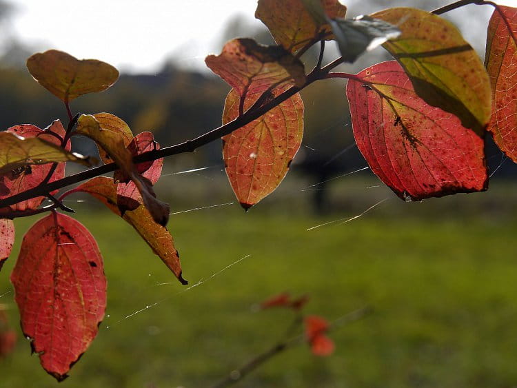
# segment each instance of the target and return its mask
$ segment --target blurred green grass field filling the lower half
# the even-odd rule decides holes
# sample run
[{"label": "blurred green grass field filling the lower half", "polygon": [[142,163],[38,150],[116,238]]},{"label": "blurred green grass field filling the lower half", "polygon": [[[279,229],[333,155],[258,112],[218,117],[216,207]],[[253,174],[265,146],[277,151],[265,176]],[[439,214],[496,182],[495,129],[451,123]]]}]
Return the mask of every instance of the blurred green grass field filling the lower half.
[{"label": "blurred green grass field filling the lower half", "polygon": [[[79,212],[103,252],[108,309],[59,386],[210,387],[281,336],[290,312],[252,306],[287,291],[310,295],[307,313],[330,320],[364,306],[373,313],[330,334],[332,356],[294,347],[242,387],[515,387],[517,216],[476,199],[486,195],[393,199],[379,212],[309,232],[356,213],[316,218],[266,206],[244,214],[234,205],[177,214],[170,230],[185,278],[205,281],[187,292],[123,221]],[[449,214],[455,203],[478,203],[479,211]],[[32,222],[20,220],[18,230]],[[0,303],[18,332],[8,274],[21,234],[0,272],[0,295],[7,293]],[[0,360],[0,387],[57,386],[23,338]]]}]

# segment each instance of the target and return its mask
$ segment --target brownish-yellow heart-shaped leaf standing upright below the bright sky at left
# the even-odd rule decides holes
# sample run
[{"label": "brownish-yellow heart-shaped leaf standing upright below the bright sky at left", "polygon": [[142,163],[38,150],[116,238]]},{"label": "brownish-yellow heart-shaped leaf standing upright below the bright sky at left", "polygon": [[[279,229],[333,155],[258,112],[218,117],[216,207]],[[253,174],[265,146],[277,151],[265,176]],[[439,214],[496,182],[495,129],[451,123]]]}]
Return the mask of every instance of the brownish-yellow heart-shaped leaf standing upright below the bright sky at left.
[{"label": "brownish-yellow heart-shaped leaf standing upright below the bright sky at left", "polygon": [[118,70],[108,63],[97,59],[79,60],[58,50],[32,55],[27,60],[27,68],[43,88],[65,102],[82,94],[102,92],[119,78]]}]

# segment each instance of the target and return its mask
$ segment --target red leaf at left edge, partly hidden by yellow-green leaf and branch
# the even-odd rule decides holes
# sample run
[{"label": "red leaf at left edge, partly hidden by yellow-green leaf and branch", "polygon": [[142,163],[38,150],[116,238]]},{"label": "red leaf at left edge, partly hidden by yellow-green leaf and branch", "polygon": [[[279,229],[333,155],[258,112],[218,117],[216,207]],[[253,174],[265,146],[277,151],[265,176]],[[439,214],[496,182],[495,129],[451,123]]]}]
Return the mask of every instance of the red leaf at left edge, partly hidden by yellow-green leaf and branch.
[{"label": "red leaf at left edge, partly hidden by yellow-green leaf and branch", "polygon": [[[23,137],[37,136],[57,145],[61,145],[63,136],[65,136],[65,129],[59,120],[54,121],[51,125],[46,127],[45,130],[40,130],[39,127],[36,127],[35,125],[21,124],[10,127],[6,132],[12,132],[13,134]],[[65,150],[70,151],[70,142],[67,143]],[[36,187],[43,182],[43,179],[45,179],[50,172],[50,168],[52,168],[52,163],[20,167],[19,169],[6,174],[0,174],[0,199],[7,198],[8,196],[13,196],[14,194]],[[65,163],[59,163],[54,174],[52,174],[52,178],[50,178],[50,182],[57,181],[64,176]],[[43,199],[45,199],[43,196],[31,198],[27,201],[22,201],[15,205],[11,205],[8,208],[4,208],[3,212],[23,212],[25,210],[36,209],[41,205]]]}]

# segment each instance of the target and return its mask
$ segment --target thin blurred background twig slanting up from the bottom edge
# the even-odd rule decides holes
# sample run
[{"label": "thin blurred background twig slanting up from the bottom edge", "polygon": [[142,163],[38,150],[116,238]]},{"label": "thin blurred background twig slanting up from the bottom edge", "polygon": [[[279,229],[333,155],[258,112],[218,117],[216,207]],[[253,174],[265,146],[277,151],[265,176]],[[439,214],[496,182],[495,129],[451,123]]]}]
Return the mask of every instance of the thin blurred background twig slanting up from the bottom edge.
[{"label": "thin blurred background twig slanting up from the bottom edge", "polygon": [[[330,330],[334,330],[338,327],[346,325],[347,323],[359,320],[367,314],[370,314],[372,311],[372,307],[369,306],[362,307],[361,309],[356,309],[355,311],[350,312],[342,316],[341,318],[337,318],[336,320],[334,320],[334,322],[332,322],[330,325]],[[298,320],[298,318],[296,319]],[[301,321],[298,320],[298,322]],[[272,347],[270,347],[270,349],[267,349],[263,353],[259,354],[258,356],[250,360],[240,369],[234,369],[233,371],[231,371],[226,378],[218,382],[212,388],[230,387],[230,385],[234,385],[236,382],[241,381],[245,376],[247,376],[247,374],[250,374],[250,372],[254,371],[256,368],[261,366],[270,358],[276,356],[277,354],[280,354],[282,351],[289,349],[290,347],[294,347],[294,345],[301,345],[302,343],[305,343],[305,334],[301,334],[299,336],[295,336],[290,339],[280,341]]]}]

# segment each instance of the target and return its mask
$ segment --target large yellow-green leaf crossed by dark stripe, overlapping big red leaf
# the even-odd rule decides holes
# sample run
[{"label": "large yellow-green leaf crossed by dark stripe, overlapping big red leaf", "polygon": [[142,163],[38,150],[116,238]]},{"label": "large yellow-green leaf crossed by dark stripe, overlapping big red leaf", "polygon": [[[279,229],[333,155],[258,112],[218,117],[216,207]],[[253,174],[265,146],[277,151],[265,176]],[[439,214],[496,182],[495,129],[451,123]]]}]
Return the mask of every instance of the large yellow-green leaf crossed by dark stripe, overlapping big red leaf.
[{"label": "large yellow-green leaf crossed by dark stripe, overlapping big red leaf", "polygon": [[458,29],[437,15],[391,8],[371,15],[396,25],[402,35],[384,43],[429,105],[456,114],[464,127],[483,136],[491,116],[488,74]]}]

